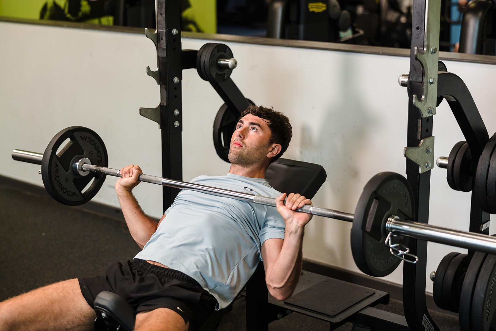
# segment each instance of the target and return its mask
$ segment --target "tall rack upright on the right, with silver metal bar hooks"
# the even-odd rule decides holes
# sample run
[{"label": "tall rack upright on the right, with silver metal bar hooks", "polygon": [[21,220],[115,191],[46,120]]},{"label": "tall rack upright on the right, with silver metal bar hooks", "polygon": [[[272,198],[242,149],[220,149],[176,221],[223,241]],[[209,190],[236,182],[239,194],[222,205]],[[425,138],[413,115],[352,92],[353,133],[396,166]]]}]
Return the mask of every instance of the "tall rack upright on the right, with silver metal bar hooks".
[{"label": "tall rack upright on the right, with silver metal bar hooks", "polygon": [[[414,0],[408,81],[407,179],[416,200],[417,222],[429,223],[431,169],[434,167],[433,118],[437,98],[440,0]],[[430,79],[433,83],[429,83]],[[427,148],[431,152],[427,153]],[[403,265],[403,307],[410,330],[439,330],[426,304],[427,242],[410,240],[416,264]]]}]

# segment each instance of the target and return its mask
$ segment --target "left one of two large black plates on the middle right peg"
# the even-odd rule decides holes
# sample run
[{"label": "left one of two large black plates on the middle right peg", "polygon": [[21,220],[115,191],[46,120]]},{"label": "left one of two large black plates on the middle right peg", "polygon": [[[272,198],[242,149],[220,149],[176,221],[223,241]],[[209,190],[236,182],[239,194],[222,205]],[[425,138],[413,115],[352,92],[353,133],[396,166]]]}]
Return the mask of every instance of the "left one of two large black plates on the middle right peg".
[{"label": "left one of two large black plates on the middle right peg", "polygon": [[496,147],[496,133],[491,137],[491,139],[484,147],[484,151],[482,151],[482,155],[479,158],[479,162],[477,163],[477,170],[475,173],[475,185],[474,191],[475,196],[477,198],[477,202],[479,206],[481,206],[482,210],[494,214],[495,211],[491,211],[488,204],[487,198],[487,180],[488,180],[488,171],[489,171],[489,162],[491,161],[491,155]]}]

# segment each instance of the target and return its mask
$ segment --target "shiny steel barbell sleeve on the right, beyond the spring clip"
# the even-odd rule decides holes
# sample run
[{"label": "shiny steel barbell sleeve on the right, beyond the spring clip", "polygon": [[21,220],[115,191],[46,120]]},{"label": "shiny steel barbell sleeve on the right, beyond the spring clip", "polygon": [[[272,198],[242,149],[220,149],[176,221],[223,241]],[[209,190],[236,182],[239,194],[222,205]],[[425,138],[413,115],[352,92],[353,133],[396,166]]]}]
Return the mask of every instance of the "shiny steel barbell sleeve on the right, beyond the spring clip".
[{"label": "shiny steel barbell sleeve on the right, beyond the spring clip", "polygon": [[389,217],[386,233],[496,254],[496,237]]}]

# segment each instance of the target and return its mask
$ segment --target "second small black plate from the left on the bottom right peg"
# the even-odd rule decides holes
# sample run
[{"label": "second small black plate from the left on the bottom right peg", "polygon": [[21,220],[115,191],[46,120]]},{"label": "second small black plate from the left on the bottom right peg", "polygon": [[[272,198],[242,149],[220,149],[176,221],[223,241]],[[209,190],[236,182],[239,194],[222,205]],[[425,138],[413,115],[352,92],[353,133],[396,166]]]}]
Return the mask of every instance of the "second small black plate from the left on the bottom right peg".
[{"label": "second small black plate from the left on the bottom right peg", "polygon": [[467,272],[469,262],[467,254],[458,254],[451,260],[444,274],[444,280],[442,281],[442,302],[444,307],[446,307],[444,309],[453,313],[458,313],[463,278]]}]

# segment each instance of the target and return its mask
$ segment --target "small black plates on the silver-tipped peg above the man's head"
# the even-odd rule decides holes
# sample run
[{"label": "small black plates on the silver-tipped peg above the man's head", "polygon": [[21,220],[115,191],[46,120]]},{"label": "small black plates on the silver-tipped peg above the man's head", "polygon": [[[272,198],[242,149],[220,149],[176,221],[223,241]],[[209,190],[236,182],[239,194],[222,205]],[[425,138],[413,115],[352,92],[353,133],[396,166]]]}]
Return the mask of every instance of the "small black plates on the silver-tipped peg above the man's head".
[{"label": "small black plates on the silver-tipped peg above the man's head", "polygon": [[[229,63],[229,60],[231,60],[231,63]],[[206,43],[201,46],[196,56],[198,75],[203,80],[211,83],[226,81],[231,76],[236,65],[237,62],[233,58],[233,52],[225,44]]]}]

